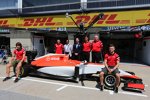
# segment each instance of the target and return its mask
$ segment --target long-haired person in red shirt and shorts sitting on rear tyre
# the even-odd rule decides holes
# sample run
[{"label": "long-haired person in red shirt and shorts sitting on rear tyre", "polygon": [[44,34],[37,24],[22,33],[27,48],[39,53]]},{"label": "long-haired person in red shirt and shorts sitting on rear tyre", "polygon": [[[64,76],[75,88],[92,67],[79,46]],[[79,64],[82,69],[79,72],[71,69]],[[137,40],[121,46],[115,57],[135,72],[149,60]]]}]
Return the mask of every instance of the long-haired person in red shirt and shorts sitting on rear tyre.
[{"label": "long-haired person in red shirt and shorts sitting on rear tyre", "polygon": [[17,65],[17,66],[16,66],[16,78],[15,78],[14,82],[16,83],[19,81],[20,69],[22,67],[22,64],[26,60],[25,55],[26,55],[26,51],[22,47],[22,44],[20,42],[17,42],[16,48],[12,52],[12,57],[10,59],[10,62],[6,65],[6,78],[4,78],[3,81],[10,79],[10,68],[12,66],[14,67],[15,65]]}]

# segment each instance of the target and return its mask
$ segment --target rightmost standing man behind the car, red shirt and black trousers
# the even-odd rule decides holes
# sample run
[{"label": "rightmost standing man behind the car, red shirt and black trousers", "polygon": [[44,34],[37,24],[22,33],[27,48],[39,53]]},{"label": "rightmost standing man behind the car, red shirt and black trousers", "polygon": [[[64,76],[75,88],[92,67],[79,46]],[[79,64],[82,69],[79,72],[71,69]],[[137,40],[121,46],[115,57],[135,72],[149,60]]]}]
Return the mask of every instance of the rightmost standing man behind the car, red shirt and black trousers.
[{"label": "rightmost standing man behind the car, red shirt and black trousers", "polygon": [[92,62],[93,63],[99,63],[101,58],[101,51],[103,48],[102,41],[99,40],[98,35],[94,36],[94,41],[92,43]]}]

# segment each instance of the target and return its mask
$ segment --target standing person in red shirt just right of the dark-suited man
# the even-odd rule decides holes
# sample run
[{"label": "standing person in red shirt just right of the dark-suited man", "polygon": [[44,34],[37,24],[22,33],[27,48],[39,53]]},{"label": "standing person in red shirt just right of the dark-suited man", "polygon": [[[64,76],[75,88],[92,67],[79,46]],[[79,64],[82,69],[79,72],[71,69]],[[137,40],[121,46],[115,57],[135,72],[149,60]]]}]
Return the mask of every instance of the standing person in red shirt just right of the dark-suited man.
[{"label": "standing person in red shirt just right of the dark-suited man", "polygon": [[89,58],[90,58],[90,51],[91,51],[91,43],[89,42],[88,37],[86,36],[84,39],[84,43],[83,43],[83,50],[82,50],[82,57],[83,60],[86,60],[87,62],[89,62]]}]

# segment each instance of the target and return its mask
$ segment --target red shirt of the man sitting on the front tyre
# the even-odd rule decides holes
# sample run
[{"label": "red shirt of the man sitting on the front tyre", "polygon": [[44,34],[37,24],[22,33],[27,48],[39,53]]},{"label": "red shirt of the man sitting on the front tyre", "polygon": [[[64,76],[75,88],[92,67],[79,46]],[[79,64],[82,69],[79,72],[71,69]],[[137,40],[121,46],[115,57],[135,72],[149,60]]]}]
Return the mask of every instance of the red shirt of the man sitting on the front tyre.
[{"label": "red shirt of the man sitting on the front tyre", "polygon": [[105,54],[104,59],[107,60],[107,65],[109,67],[115,67],[117,65],[117,61],[120,61],[119,55],[117,53]]}]

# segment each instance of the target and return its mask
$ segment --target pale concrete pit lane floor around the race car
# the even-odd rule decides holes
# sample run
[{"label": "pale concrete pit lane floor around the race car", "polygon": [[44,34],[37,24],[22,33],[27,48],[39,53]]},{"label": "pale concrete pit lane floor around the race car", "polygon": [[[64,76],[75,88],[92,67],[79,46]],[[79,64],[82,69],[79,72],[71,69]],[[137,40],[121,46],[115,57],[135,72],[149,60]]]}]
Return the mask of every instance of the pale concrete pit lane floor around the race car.
[{"label": "pale concrete pit lane floor around the race car", "polygon": [[[136,63],[121,63],[120,69],[133,71],[143,79],[145,91],[142,93],[123,91],[119,87],[116,94],[111,90],[101,92],[96,88],[97,82],[66,82],[40,77],[25,77],[18,83],[14,78],[3,82],[5,65],[0,65],[0,100],[150,100],[150,66]],[[13,75],[13,72],[11,72]]]}]

